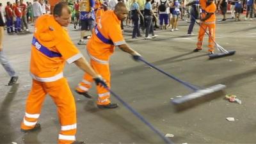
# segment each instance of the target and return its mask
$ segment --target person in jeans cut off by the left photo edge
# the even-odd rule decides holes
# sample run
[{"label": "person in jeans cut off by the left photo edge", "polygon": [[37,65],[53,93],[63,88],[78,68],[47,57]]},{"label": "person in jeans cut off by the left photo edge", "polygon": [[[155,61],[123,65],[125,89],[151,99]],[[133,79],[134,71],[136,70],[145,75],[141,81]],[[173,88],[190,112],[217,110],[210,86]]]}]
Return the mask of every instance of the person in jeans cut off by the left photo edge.
[{"label": "person in jeans cut off by the left photo edge", "polygon": [[3,36],[4,36],[4,18],[3,18],[2,13],[0,12],[0,62],[3,65],[4,69],[6,70],[6,72],[11,77],[11,79],[8,83],[8,86],[11,86],[17,82],[18,76],[17,76],[15,70],[13,70],[12,65],[7,60],[6,56],[4,56]]}]

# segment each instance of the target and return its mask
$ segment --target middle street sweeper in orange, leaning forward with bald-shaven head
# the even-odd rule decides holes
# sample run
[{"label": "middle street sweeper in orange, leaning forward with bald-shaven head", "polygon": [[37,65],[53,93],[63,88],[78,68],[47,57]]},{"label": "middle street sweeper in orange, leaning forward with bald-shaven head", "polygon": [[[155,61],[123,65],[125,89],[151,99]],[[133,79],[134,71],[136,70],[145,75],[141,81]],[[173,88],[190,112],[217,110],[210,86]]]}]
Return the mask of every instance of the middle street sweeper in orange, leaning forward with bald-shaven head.
[{"label": "middle street sweeper in orange, leaning forward with bald-shaven head", "polygon": [[[125,42],[121,30],[121,20],[125,20],[128,10],[124,3],[116,4],[115,10],[104,12],[100,22],[95,26],[92,38],[88,41],[87,51],[90,56],[90,64],[92,67],[106,80],[110,88],[110,70],[109,58],[118,46],[122,51],[132,55],[134,60],[140,58],[140,54],[131,49]],[[92,76],[84,74],[83,81],[78,84],[76,92],[91,98],[88,90],[92,87]],[[97,106],[102,109],[110,109],[118,107],[117,104],[111,103],[110,93],[105,88],[97,86],[98,100]]]}]

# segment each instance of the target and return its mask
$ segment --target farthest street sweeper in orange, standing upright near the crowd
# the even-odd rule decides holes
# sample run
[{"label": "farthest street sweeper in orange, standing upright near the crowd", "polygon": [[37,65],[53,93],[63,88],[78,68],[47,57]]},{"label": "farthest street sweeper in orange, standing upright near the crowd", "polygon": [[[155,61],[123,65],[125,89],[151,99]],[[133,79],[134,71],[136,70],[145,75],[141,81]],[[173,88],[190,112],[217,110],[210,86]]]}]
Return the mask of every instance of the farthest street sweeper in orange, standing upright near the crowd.
[{"label": "farthest street sweeper in orange, standing upright near the crowd", "polygon": [[204,40],[205,31],[209,31],[209,35],[212,37],[209,37],[208,40],[208,52],[209,54],[214,53],[214,47],[215,44],[212,40],[215,40],[215,11],[216,11],[216,5],[214,3],[214,0],[207,0],[206,3],[204,3],[205,0],[200,0],[200,6],[202,8],[202,15],[200,20],[196,20],[197,23],[200,24],[200,29],[198,33],[198,42],[196,44],[196,49],[194,49],[194,52],[198,52],[202,50],[202,44]]}]

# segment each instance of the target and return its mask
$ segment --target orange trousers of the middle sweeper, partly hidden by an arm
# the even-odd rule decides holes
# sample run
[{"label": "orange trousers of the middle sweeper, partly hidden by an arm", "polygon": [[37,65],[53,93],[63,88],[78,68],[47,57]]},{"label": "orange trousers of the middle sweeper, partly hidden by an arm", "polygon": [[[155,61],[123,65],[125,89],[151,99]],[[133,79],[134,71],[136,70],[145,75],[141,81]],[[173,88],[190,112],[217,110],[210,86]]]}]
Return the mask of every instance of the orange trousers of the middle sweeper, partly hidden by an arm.
[{"label": "orange trousers of the middle sweeper, partly hidden by an arm", "polygon": [[[110,70],[108,63],[99,63],[98,61],[90,60],[90,65],[92,68],[100,74],[110,88]],[[87,92],[92,87],[93,79],[92,76],[89,74],[84,74],[83,81],[81,81],[76,90],[79,92]],[[97,93],[98,93],[98,101],[97,104],[99,105],[106,105],[110,103],[110,93],[106,90],[103,86],[97,86]]]}]

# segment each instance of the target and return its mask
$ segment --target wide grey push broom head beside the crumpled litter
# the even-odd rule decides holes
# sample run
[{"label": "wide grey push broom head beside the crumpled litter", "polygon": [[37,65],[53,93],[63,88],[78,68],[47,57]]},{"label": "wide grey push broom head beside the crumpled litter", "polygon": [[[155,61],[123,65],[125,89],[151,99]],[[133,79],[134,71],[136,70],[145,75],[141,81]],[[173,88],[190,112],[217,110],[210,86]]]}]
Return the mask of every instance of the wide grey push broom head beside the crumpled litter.
[{"label": "wide grey push broom head beside the crumpled litter", "polygon": [[190,100],[197,99],[199,97],[204,97],[204,96],[209,95],[211,93],[219,92],[219,91],[223,90],[224,88],[226,88],[225,85],[216,84],[216,85],[211,86],[209,88],[205,88],[205,89],[202,89],[202,90],[197,90],[193,93],[190,93],[189,95],[185,95],[183,97],[173,99],[172,103],[175,104],[175,105],[183,104],[184,102],[188,102]]}]

